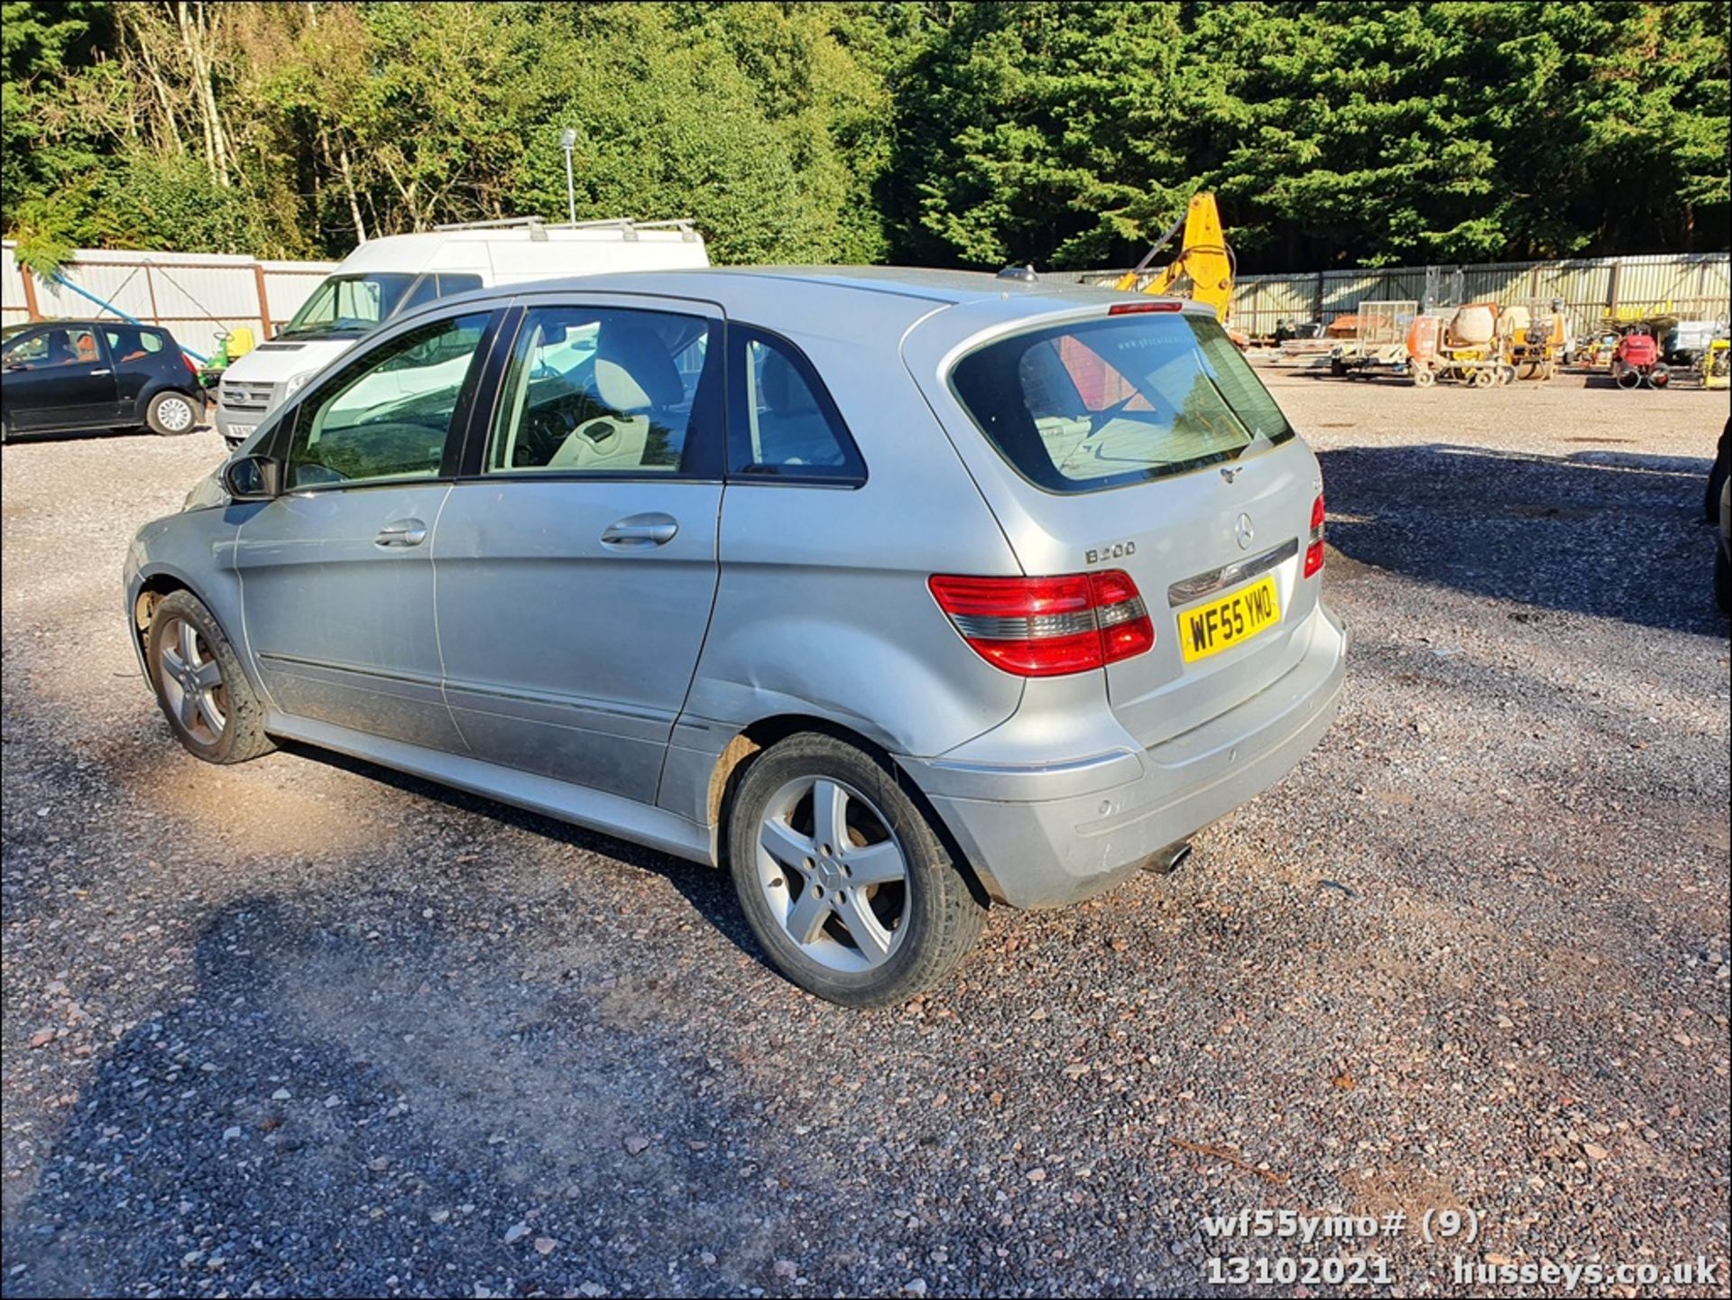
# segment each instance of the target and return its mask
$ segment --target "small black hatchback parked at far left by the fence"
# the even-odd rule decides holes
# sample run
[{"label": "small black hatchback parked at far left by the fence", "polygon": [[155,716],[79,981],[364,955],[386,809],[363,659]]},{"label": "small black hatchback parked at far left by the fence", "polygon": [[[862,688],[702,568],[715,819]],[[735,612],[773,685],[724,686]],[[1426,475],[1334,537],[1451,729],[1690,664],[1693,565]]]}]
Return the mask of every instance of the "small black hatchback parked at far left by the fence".
[{"label": "small black hatchback parked at far left by the fence", "polygon": [[197,367],[173,336],[130,320],[33,320],[0,334],[0,438],[147,426],[191,433]]}]

